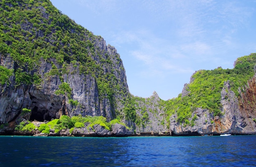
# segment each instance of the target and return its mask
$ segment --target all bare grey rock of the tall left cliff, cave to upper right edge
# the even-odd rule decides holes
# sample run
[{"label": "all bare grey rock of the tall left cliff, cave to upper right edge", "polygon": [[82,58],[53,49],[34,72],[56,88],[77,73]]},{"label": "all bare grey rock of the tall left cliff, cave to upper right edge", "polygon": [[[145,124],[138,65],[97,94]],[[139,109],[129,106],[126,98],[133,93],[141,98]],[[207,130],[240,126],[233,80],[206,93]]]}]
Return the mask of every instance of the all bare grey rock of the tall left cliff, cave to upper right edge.
[{"label": "all bare grey rock of the tall left cliff, cave to upper right edge", "polygon": [[[56,59],[41,60],[40,65],[33,72],[40,74],[42,83],[38,85],[20,85],[16,86],[15,77],[10,78],[10,85],[0,85],[0,122],[7,123],[17,118],[21,114],[22,108],[31,109],[31,119],[51,120],[59,118],[61,115],[75,116],[104,116],[107,120],[115,118],[115,110],[120,109],[122,100],[129,95],[128,85],[123,64],[119,58],[116,49],[110,45],[106,46],[106,42],[100,38],[95,42],[103,57],[109,57],[112,64],[102,64],[98,59],[99,55],[94,58],[101,64],[103,71],[113,73],[117,78],[117,84],[121,85],[121,89],[125,94],[113,94],[114,103],[112,104],[107,95],[100,97],[98,91],[97,80],[90,73],[83,74],[79,71],[79,63],[67,65],[68,73],[58,75],[47,75],[52,70],[52,64],[58,65]],[[98,58],[97,58],[98,57]],[[120,59],[120,60],[117,60]],[[8,69],[17,69],[16,63],[10,56],[1,55],[1,65]],[[56,95],[55,91],[59,89],[61,83],[67,82],[72,89],[72,100],[79,102],[78,106],[69,103],[67,96]],[[30,118],[29,118],[30,119]]]}]

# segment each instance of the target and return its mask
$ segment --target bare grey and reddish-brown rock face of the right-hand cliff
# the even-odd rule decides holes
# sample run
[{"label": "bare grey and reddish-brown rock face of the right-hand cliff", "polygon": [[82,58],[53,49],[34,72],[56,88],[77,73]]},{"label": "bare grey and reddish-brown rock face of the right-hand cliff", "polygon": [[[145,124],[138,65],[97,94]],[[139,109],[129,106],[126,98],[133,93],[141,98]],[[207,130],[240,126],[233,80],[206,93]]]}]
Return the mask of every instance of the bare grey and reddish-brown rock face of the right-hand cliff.
[{"label": "bare grey and reddish-brown rock face of the right-hand cliff", "polygon": [[[170,118],[172,135],[201,135],[201,134],[256,134],[256,76],[248,81],[244,91],[240,91],[238,99],[230,89],[229,81],[224,83],[221,91],[222,116],[213,116],[207,109],[197,108],[189,121],[194,120],[194,126],[180,124],[177,115]],[[185,85],[186,86],[186,85]],[[253,104],[253,105],[252,105]]]}]

